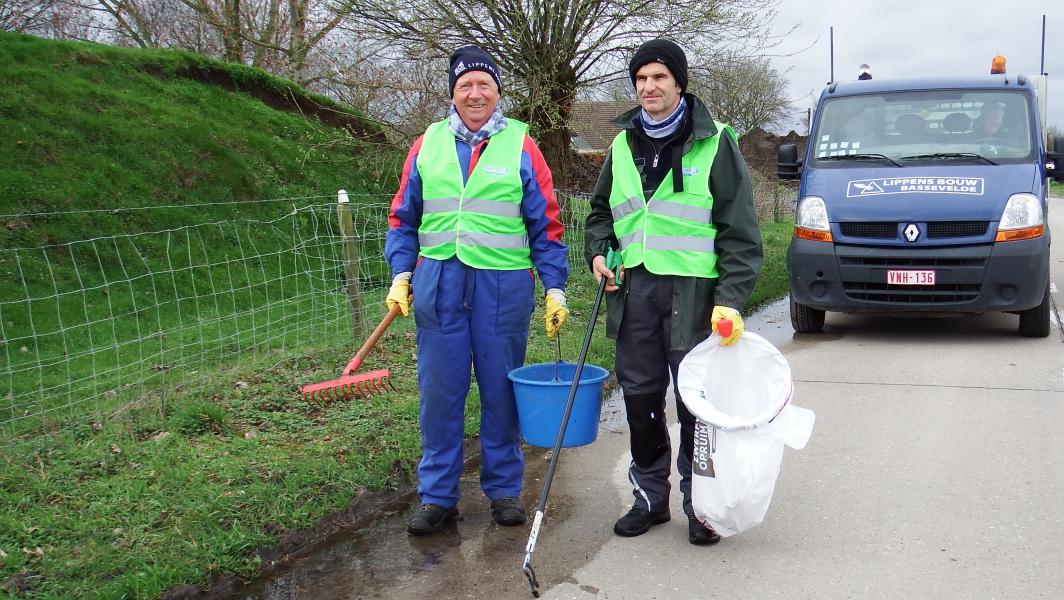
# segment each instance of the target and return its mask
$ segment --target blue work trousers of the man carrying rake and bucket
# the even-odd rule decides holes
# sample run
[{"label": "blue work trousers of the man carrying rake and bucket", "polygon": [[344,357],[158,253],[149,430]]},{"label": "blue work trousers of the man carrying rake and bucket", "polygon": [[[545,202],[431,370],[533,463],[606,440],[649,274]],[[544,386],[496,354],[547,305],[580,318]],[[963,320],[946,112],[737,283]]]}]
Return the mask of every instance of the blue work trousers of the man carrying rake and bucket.
[{"label": "blue work trousers of the man carrying rake and bucket", "polygon": [[480,389],[481,489],[493,501],[520,496],[525,460],[506,373],[525,363],[534,285],[529,270],[475,269],[456,257],[421,259],[414,269],[421,503],[459,501],[470,366]]}]

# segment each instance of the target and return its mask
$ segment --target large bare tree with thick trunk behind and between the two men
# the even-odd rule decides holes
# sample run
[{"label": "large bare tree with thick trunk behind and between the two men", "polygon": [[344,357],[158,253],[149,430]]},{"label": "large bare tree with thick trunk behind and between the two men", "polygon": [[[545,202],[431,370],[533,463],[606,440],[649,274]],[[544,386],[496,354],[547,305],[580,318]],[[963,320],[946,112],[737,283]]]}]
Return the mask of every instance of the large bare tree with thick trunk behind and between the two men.
[{"label": "large bare tree with thick trunk behind and between the two men", "polygon": [[[582,86],[616,79],[631,52],[668,37],[688,52],[753,52],[770,41],[778,0],[363,0],[366,27],[439,56],[475,43],[504,71],[512,114],[527,120],[555,179],[569,165],[569,117]],[[708,33],[711,32],[711,33]]]}]

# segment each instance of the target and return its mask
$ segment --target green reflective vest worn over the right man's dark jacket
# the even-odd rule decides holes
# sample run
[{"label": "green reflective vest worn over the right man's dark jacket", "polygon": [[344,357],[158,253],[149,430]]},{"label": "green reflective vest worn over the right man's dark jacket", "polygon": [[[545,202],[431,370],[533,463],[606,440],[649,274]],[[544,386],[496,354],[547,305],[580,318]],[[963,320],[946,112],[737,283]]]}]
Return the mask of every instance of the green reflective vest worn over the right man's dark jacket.
[{"label": "green reflective vest worn over the right man's dark jacket", "polygon": [[720,132],[731,128],[720,122],[716,126],[715,135],[695,140],[683,155],[683,191],[672,190],[669,170],[649,201],[643,194],[626,132],[614,138],[610,211],[626,268],[644,265],[656,274],[718,277],[710,169]]}]

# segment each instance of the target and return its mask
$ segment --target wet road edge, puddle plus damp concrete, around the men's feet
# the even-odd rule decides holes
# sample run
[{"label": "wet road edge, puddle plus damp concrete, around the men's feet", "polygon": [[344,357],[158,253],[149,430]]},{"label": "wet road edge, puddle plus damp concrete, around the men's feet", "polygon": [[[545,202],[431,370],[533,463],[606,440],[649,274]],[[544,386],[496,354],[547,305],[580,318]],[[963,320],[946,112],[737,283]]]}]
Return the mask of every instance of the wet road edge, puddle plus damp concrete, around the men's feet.
[{"label": "wet road edge, puddle plus damp concrete, around the men's feet", "polygon": [[[610,480],[613,456],[627,449],[624,418],[619,397],[608,399],[597,440],[562,450],[532,562],[542,589],[566,581],[594,556],[613,535],[614,519],[627,509],[613,493]],[[526,449],[521,499],[528,506],[529,523],[543,490],[550,452]],[[610,464],[596,464],[600,455],[611,456]],[[461,488],[460,519],[433,535],[406,535],[405,519],[416,504],[392,506],[372,526],[321,548],[234,598],[529,598],[521,565],[531,524],[504,528],[492,521],[477,466],[463,473]],[[601,490],[609,490],[606,497],[597,496]]]}]

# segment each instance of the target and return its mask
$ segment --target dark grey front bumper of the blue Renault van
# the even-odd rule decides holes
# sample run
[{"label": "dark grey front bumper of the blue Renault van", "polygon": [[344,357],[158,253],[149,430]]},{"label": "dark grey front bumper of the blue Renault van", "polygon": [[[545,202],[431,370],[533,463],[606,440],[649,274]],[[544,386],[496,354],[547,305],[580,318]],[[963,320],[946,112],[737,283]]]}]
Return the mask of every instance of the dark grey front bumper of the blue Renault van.
[{"label": "dark grey front bumper of the blue Renault van", "polygon": [[[933,270],[934,285],[887,285],[886,271]],[[1049,236],[975,246],[885,248],[792,238],[791,297],[820,311],[1013,312],[1042,303]]]}]

